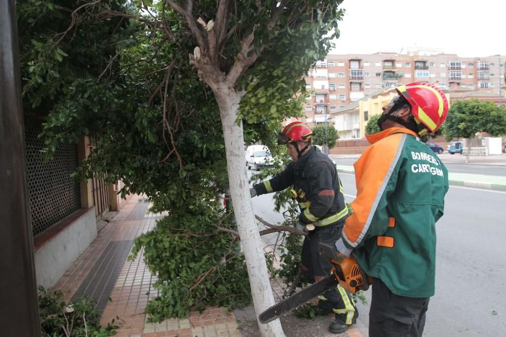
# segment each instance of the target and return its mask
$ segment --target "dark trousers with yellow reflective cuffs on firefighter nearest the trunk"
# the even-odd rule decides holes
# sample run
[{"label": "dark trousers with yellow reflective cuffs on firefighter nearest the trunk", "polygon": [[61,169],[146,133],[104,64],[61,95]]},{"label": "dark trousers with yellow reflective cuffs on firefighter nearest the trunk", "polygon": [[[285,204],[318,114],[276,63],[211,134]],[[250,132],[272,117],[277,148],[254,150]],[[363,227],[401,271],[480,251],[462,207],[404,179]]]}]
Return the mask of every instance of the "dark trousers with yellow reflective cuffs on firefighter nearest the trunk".
[{"label": "dark trousers with yellow reflective cuffs on firefighter nearest the trunk", "polygon": [[[344,221],[337,224],[316,227],[310,232],[302,244],[302,275],[309,281],[314,282],[323,276],[330,274],[332,263],[323,258],[318,250],[320,242],[334,245],[341,236]],[[332,309],[336,319],[344,324],[355,323],[358,313],[355,304],[348,292],[341,286],[336,287],[320,297],[318,306],[322,309]]]}]

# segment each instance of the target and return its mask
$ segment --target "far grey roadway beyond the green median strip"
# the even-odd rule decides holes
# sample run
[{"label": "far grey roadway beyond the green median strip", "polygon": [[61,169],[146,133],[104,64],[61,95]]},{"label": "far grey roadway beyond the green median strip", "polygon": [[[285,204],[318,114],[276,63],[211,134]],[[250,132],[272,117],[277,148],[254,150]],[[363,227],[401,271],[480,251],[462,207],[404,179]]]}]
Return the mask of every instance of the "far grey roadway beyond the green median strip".
[{"label": "far grey roadway beyond the green median strip", "polygon": [[[439,158],[445,164],[449,172],[506,176],[506,160],[504,160],[504,166],[473,164],[473,160],[476,161],[475,158],[471,158],[471,164],[454,164],[452,163],[452,161],[456,160],[452,158],[454,156],[458,156],[459,158],[457,159],[461,159],[460,155],[439,155]],[[353,166],[353,163],[357,161],[357,158],[334,158],[334,161],[337,165]]]}]

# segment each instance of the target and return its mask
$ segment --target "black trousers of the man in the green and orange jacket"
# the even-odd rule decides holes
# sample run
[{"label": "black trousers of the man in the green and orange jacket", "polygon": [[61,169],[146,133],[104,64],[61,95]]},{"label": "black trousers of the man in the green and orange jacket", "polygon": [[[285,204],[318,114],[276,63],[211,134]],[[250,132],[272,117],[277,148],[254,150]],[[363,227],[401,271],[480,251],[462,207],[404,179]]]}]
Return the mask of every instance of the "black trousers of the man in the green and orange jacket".
[{"label": "black trousers of the man in the green and orange jacket", "polygon": [[369,337],[421,337],[429,300],[395,295],[373,277]]}]

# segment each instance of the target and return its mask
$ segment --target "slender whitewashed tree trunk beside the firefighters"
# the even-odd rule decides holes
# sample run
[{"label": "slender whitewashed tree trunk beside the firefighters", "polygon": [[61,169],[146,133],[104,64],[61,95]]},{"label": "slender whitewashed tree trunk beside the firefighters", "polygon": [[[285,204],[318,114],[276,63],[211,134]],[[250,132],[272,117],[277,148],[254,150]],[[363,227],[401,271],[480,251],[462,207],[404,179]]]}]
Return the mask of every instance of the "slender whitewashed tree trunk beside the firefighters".
[{"label": "slender whitewashed tree trunk beside the firefighters", "polygon": [[[237,110],[241,95],[230,87],[215,88],[215,98],[220,108],[225,151],[227,156],[230,195],[234,207],[241,246],[246,259],[249,284],[255,312],[258,316],[274,305],[269,273],[264,256],[264,248],[251,207],[249,184],[244,166],[244,135],[242,123],[236,124]],[[284,332],[279,319],[268,324],[258,322],[263,337],[283,337]]]}]

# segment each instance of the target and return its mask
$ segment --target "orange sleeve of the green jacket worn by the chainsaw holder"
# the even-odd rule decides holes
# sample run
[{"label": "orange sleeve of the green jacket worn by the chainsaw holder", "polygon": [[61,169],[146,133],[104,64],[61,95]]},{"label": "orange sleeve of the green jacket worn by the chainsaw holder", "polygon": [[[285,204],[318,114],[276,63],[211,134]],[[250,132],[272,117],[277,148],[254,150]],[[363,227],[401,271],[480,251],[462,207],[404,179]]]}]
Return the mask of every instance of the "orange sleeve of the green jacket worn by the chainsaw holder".
[{"label": "orange sleeve of the green jacket worn by the chainsaw holder", "polygon": [[[357,197],[351,203],[353,214],[343,228],[348,241],[355,246],[369,227],[369,213],[381,199],[383,182],[394,165],[402,133],[392,134],[372,144],[354,164]],[[394,169],[392,167],[392,169]],[[372,216],[372,215],[371,215]],[[370,220],[369,220],[370,221]]]}]

